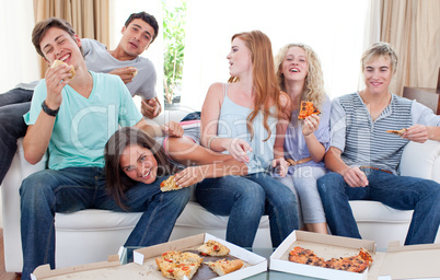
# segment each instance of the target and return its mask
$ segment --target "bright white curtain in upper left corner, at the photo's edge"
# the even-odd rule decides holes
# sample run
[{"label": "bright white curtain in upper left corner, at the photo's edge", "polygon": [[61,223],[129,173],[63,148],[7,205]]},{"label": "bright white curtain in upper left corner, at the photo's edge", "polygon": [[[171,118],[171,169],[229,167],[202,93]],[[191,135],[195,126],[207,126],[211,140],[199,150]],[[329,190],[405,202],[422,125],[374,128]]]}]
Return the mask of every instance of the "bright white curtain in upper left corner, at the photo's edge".
[{"label": "bright white curtain in upper left corner, at the photo's edge", "polygon": [[38,55],[32,45],[33,0],[0,1],[0,93],[39,79]]}]

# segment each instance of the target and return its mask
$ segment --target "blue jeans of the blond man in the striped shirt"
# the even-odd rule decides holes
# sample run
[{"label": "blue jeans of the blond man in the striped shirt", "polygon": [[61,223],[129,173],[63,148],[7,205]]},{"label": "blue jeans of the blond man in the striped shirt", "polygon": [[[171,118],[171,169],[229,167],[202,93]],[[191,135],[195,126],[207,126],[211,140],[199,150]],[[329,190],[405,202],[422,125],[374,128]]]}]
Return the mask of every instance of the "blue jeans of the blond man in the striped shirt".
[{"label": "blue jeans of the blond man in the striped shirt", "polygon": [[332,233],[361,238],[348,200],[373,200],[398,210],[414,210],[405,245],[433,243],[440,225],[440,185],[429,179],[361,170],[369,180],[364,188],[348,186],[341,175],[333,172],[317,180]]}]

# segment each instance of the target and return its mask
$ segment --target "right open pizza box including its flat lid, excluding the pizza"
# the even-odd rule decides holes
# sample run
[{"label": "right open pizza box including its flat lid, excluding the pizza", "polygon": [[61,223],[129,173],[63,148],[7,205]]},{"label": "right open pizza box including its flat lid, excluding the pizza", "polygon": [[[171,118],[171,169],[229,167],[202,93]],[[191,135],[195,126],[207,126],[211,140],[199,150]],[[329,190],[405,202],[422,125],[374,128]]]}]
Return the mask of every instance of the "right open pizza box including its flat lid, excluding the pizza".
[{"label": "right open pizza box including its flat lid, excluding the pizza", "polygon": [[[296,264],[288,260],[290,250],[296,246],[312,249],[315,255],[325,260],[358,255],[359,249],[363,247],[371,254],[373,264],[363,273]],[[440,280],[439,261],[440,244],[400,246],[398,242],[394,242],[390,243],[385,253],[377,250],[374,241],[294,231],[270,256],[269,269],[335,280]]]}]

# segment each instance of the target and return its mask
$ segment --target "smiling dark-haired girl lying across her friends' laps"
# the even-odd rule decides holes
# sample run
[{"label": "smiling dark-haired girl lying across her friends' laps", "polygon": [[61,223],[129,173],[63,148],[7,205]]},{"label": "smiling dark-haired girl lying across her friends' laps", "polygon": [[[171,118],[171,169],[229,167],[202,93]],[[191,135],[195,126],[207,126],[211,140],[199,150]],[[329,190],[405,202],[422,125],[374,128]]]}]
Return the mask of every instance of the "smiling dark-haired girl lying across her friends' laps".
[{"label": "smiling dark-haired girl lying across her friends' laps", "polygon": [[[178,186],[187,187],[204,178],[243,175],[231,155],[205,149],[189,137],[165,138],[163,147],[134,127],[116,131],[104,150],[107,190],[125,208],[125,192],[138,183],[147,185],[174,174]],[[185,167],[189,166],[189,167]],[[163,178],[161,178],[163,179]],[[158,187],[158,184],[149,187]]]}]

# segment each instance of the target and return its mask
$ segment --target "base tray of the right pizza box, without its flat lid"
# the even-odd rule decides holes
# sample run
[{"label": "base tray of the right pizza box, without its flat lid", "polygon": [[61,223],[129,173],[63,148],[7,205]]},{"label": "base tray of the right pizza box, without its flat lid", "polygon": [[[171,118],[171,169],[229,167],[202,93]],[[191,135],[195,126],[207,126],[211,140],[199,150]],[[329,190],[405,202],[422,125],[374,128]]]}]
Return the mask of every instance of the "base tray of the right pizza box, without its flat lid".
[{"label": "base tray of the right pizza box, without its flat lid", "polygon": [[375,243],[373,241],[293,231],[271,254],[269,269],[322,279],[363,280],[368,278],[369,269],[362,273],[357,273],[289,261],[289,253],[294,246],[312,249],[314,254],[324,259],[355,256],[363,247],[373,257],[371,268],[375,262]]}]

